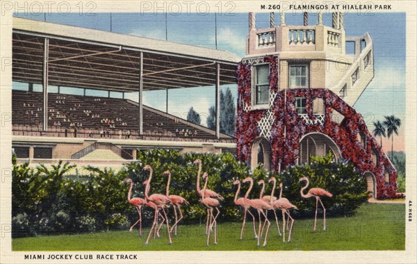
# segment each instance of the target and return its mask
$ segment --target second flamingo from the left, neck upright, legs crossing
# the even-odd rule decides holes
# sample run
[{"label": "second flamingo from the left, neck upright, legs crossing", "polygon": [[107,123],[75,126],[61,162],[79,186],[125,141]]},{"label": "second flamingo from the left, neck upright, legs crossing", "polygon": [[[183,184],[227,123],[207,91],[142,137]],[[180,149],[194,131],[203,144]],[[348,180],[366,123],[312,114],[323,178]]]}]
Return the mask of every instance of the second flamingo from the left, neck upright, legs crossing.
[{"label": "second flamingo from the left, neck upright, legs crossing", "polygon": [[172,240],[171,240],[171,233],[170,233],[170,224],[168,223],[168,217],[167,217],[167,213],[165,212],[165,206],[167,206],[167,204],[170,203],[170,199],[168,197],[166,197],[165,195],[160,195],[160,194],[153,194],[151,196],[148,196],[148,192],[150,189],[150,184],[151,184],[151,180],[152,180],[152,167],[149,165],[145,165],[145,167],[143,167],[142,170],[149,170],[149,178],[147,179],[147,184],[146,184],[146,188],[145,188],[145,199],[147,201],[152,201],[154,204],[156,204],[156,209],[155,209],[155,218],[154,218],[154,223],[152,224],[151,230],[149,231],[149,235],[147,236],[147,240],[145,242],[145,245],[147,245],[147,243],[149,242],[149,238],[151,236],[152,233],[152,229],[158,227],[158,208],[161,208],[161,210],[163,211],[163,215],[165,218],[165,222],[167,224],[167,232],[168,232],[168,242],[170,244],[172,244]]}]

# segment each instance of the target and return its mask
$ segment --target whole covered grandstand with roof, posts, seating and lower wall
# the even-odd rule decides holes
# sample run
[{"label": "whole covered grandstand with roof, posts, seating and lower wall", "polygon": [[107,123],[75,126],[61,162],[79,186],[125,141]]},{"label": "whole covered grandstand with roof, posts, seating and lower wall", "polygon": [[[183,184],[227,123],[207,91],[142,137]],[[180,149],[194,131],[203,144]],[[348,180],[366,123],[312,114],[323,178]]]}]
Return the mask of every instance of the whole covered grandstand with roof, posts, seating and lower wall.
[{"label": "whole covered grandstand with roof, posts, seating and lower wall", "polygon": [[[18,161],[95,165],[110,157],[106,165],[117,165],[137,149],[235,151],[236,139],[220,133],[219,94],[220,85],[236,84],[239,61],[226,51],[14,17],[13,81],[27,86],[12,93]],[[145,91],[201,86],[215,88],[214,131],[142,104]]]}]

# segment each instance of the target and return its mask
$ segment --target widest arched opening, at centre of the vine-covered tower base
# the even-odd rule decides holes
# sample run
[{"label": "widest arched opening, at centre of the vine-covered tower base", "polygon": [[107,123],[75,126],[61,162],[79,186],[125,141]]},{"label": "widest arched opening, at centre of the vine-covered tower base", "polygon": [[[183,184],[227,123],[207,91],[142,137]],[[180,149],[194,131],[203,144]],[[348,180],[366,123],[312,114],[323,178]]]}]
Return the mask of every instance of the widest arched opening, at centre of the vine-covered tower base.
[{"label": "widest arched opening, at centre of the vine-covered tower base", "polygon": [[298,164],[310,163],[310,156],[325,156],[332,153],[334,160],[341,158],[341,151],[336,143],[323,133],[309,133],[300,141]]}]

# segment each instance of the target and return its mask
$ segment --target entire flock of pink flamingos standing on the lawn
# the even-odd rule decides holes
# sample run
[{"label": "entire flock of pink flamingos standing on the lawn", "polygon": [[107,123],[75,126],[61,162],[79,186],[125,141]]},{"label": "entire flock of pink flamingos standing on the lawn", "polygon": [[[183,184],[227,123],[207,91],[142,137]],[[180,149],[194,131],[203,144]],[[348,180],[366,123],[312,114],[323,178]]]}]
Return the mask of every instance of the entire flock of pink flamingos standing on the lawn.
[{"label": "entire flock of pink flamingos standing on the lawn", "polygon": [[[208,174],[204,172],[202,175],[202,179],[204,181],[204,187],[203,189],[200,188],[200,174],[202,172],[202,160],[195,160],[195,165],[198,165],[198,172],[197,172],[197,194],[200,197],[200,201],[207,208],[207,222],[206,222],[206,236],[207,236],[207,242],[206,245],[209,245],[210,242],[210,235],[211,233],[214,233],[214,244],[217,244],[217,222],[216,219],[218,215],[220,214],[219,206],[220,201],[224,200],[224,198],[219,195],[218,193],[214,192],[213,190],[207,189],[207,181],[208,181]],[[129,201],[129,204],[132,204],[136,207],[136,210],[138,211],[139,219],[136,223],[134,223],[129,231],[133,230],[133,227],[136,226],[136,224],[139,223],[139,235],[142,236],[142,213],[141,208],[142,206],[149,206],[150,208],[153,208],[155,210],[154,214],[154,222],[152,224],[152,227],[149,231],[149,234],[147,236],[147,239],[145,241],[145,245],[148,244],[149,238],[152,236],[152,233],[154,233],[154,238],[159,237],[159,231],[163,224],[165,223],[167,226],[167,235],[169,243],[172,243],[171,234],[174,232],[174,236],[177,236],[177,225],[183,218],[183,214],[181,212],[181,206],[187,205],[188,201],[184,199],[181,196],[178,195],[170,195],[170,181],[171,181],[171,173],[170,171],[163,172],[163,175],[168,176],[167,181],[167,188],[166,188],[166,194],[153,194],[149,196],[149,190],[151,188],[151,180],[152,180],[152,167],[149,165],[145,165],[142,170],[149,170],[149,178],[144,181],[142,184],[145,185],[145,199],[142,199],[140,197],[133,197],[131,198],[132,194],[132,188],[133,188],[133,181],[131,179],[126,179],[126,183],[130,183],[129,192],[127,194],[127,200]],[[323,190],[321,188],[311,188],[307,194],[304,194],[304,190],[309,186],[309,179],[306,177],[303,177],[300,179],[300,181],[306,181],[306,185],[301,188],[300,193],[303,198],[310,198],[310,197],[316,197],[316,215],[314,217],[314,227],[313,230],[316,231],[316,222],[317,222],[317,210],[318,210],[318,203],[320,202],[324,218],[323,218],[323,230],[326,230],[326,209],[325,206],[322,204],[322,201],[320,200],[320,197],[327,196],[332,197],[333,195],[330,192],[327,192],[326,190]],[[274,177],[271,177],[268,181],[268,183],[273,183],[273,188],[271,195],[265,195],[263,196],[263,190],[265,189],[265,182],[263,180],[259,181],[259,185],[262,186],[261,194],[259,195],[259,199],[248,199],[247,197],[250,194],[250,191],[252,190],[252,186],[254,185],[254,181],[251,177],[247,177],[242,181],[242,183],[250,183],[250,187],[247,190],[245,197],[238,198],[239,192],[240,192],[240,181],[236,180],[234,181],[234,185],[238,185],[238,188],[236,190],[236,195],[234,197],[234,203],[237,206],[241,206],[245,210],[245,215],[243,217],[243,224],[242,229],[240,230],[240,240],[243,238],[243,229],[245,228],[245,220],[246,220],[246,214],[249,213],[252,216],[253,220],[253,226],[254,226],[254,237],[257,239],[257,245],[260,245],[260,240],[263,236],[264,229],[266,226],[265,231],[265,237],[263,240],[263,246],[266,245],[266,242],[268,240],[268,232],[270,229],[270,221],[268,220],[268,211],[272,211],[275,215],[275,221],[277,222],[277,229],[279,236],[283,237],[283,241],[285,242],[285,231],[288,230],[288,242],[291,241],[291,233],[293,231],[293,225],[294,225],[294,219],[290,215],[290,210],[295,209],[297,210],[297,207],[291,204],[288,199],[282,197],[282,189],[283,185],[282,183],[279,183],[279,197],[274,196],[275,188],[277,185],[277,179]],[[167,217],[167,212],[165,209],[167,209],[170,206],[174,207],[174,215],[175,215],[175,222],[170,227],[169,220]],[[258,231],[256,232],[256,221],[254,215],[249,210],[250,208],[253,208],[254,210],[258,211],[258,217],[259,217],[259,227]],[[282,213],[282,235],[281,230],[279,229],[278,224],[278,217],[277,217],[277,210],[281,210]],[[178,213],[177,213],[178,211]],[[214,212],[215,211],[215,215]],[[162,212],[162,213],[161,213]],[[179,217],[178,217],[179,215]],[[263,215],[263,224],[261,220],[261,215]],[[159,222],[159,218],[161,217],[162,221]],[[286,220],[287,217],[287,220]],[[291,225],[289,225],[289,220],[291,219]]]}]

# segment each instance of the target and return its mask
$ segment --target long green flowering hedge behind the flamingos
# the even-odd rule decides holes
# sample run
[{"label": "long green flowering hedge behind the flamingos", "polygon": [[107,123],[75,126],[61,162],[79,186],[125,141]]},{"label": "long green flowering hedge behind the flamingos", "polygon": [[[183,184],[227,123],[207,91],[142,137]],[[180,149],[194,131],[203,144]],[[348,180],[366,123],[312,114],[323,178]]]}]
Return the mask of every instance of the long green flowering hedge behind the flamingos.
[{"label": "long green flowering hedge behind the flamingos", "polygon": [[[315,199],[300,197],[300,188],[304,182],[298,179],[308,176],[310,187],[325,188],[334,197],[322,199],[328,215],[351,215],[366,201],[366,179],[350,163],[334,163],[332,156],[311,157],[311,165],[288,167],[281,174],[266,173],[261,166],[253,173],[244,163],[240,163],[232,154],[184,154],[179,151],[152,149],[138,151],[138,160],[126,164],[122,170],[99,170],[85,167],[88,176],[69,175],[73,168],[68,163],[59,162],[51,170],[40,165],[35,169],[28,163],[16,165],[13,169],[12,216],[13,237],[35,236],[37,234],[56,234],[72,232],[92,232],[109,229],[127,229],[138,219],[138,214],[126,201],[129,185],[126,178],[133,179],[133,197],[143,197],[142,181],[149,172],[142,167],[149,164],[154,169],[151,193],[165,194],[167,176],[165,170],[172,172],[170,195],[180,195],[190,202],[183,206],[183,223],[204,222],[205,208],[200,204],[196,193],[197,166],[193,161],[202,160],[202,172],[208,172],[208,188],[224,197],[219,216],[222,221],[236,221],[242,218],[240,208],[234,204],[236,186],[234,179],[243,180],[247,176],[254,179],[254,188],[250,198],[259,197],[260,179],[267,182],[265,195],[270,195],[272,184],[268,177],[277,178],[277,186],[284,183],[283,196],[288,198],[300,210],[294,211],[295,217],[311,217],[315,211]],[[200,184],[203,182],[200,180]],[[243,184],[240,197],[245,195],[248,184]],[[275,190],[275,196],[279,189]],[[172,211],[172,209],[170,209]],[[170,215],[172,212],[170,212]],[[153,211],[142,210],[143,224],[152,222]]]}]

